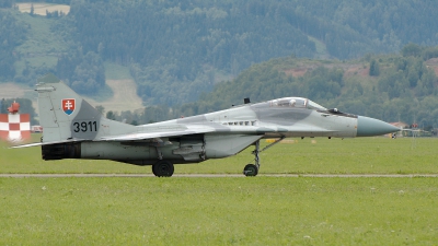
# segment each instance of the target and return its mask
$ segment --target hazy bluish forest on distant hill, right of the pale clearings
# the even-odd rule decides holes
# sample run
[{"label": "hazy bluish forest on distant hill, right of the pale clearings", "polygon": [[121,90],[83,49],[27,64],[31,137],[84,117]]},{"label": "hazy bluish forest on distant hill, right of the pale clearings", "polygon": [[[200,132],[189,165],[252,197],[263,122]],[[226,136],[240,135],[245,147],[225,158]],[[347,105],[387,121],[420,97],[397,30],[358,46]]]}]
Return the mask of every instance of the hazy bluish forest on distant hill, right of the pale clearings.
[{"label": "hazy bluish forest on distant hill, right of the pale clearings", "polygon": [[417,12],[436,4],[412,4],[418,8],[385,1],[72,1],[69,23],[83,52],[130,67],[146,105],[172,106],[210,91],[220,82],[218,71],[237,77],[275,57],[315,58],[310,37],[338,59],[399,51],[408,42],[438,44],[433,14]]}]

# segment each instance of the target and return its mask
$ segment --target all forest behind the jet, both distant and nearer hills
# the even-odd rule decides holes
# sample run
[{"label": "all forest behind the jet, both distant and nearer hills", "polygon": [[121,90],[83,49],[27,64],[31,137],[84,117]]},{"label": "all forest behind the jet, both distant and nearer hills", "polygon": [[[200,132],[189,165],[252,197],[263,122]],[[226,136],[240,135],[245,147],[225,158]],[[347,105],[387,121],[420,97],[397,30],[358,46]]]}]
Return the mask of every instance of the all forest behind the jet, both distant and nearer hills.
[{"label": "all forest behind the jet, both distant and nearer hills", "polygon": [[[0,4],[0,81],[33,84],[54,72],[95,95],[104,62],[124,66],[152,112],[125,117],[137,124],[291,94],[389,121],[436,124],[427,110],[437,83],[426,65],[438,45],[435,1],[50,0],[70,12],[31,16],[62,39],[46,54],[20,51],[36,34],[14,2],[24,1]],[[28,62],[38,56],[56,60]],[[285,72],[303,59],[319,66],[298,78]],[[355,62],[366,63],[368,78],[345,75]]]}]

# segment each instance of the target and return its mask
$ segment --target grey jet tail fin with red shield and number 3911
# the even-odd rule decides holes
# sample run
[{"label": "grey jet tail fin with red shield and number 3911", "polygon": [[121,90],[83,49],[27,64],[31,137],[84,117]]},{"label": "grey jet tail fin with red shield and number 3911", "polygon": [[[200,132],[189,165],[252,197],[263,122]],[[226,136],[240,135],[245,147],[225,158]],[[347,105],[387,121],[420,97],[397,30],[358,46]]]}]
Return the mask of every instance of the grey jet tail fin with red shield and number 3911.
[{"label": "grey jet tail fin with red shield and number 3911", "polygon": [[103,136],[131,133],[130,125],[108,120],[54,74],[37,80],[43,142],[95,140]]}]

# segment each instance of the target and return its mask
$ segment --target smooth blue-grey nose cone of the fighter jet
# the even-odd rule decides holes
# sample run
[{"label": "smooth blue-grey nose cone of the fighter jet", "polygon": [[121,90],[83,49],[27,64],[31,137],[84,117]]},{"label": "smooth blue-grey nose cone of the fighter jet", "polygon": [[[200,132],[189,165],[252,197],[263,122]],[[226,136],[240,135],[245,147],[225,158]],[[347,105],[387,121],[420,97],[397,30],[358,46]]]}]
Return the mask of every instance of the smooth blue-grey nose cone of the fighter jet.
[{"label": "smooth blue-grey nose cone of the fighter jet", "polygon": [[365,116],[357,117],[357,137],[381,136],[395,131],[400,131],[400,128],[382,120]]}]

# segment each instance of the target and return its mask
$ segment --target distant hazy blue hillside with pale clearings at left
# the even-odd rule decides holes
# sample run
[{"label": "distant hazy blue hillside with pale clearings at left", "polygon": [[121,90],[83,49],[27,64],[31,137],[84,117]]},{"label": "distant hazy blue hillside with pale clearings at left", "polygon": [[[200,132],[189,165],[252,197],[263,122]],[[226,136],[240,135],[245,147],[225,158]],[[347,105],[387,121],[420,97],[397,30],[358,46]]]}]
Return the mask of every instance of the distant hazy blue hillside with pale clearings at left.
[{"label": "distant hazy blue hillside with pale clearings at left", "polygon": [[435,1],[49,1],[0,4],[0,81],[32,85],[50,71],[92,96],[111,62],[129,68],[146,105],[172,106],[276,57],[346,60],[438,44]]}]

